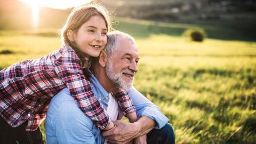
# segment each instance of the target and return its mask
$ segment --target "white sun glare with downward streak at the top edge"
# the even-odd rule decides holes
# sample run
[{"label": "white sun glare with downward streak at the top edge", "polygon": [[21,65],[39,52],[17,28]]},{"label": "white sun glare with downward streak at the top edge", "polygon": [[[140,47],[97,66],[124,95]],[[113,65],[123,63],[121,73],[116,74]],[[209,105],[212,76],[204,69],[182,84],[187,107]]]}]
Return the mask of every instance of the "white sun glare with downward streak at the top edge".
[{"label": "white sun glare with downward streak at the top edge", "polygon": [[38,27],[39,23],[39,7],[50,7],[52,9],[68,9],[71,7],[79,6],[91,2],[92,0],[18,0],[27,3],[31,6],[32,10],[32,26]]}]

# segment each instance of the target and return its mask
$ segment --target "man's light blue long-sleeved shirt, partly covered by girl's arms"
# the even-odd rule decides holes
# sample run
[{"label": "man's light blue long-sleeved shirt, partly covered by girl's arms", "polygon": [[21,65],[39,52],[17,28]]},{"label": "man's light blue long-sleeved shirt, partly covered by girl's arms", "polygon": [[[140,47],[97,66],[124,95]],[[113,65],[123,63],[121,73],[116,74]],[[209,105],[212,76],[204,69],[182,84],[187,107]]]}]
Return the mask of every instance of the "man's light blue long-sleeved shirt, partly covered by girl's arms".
[{"label": "man's light blue long-sleeved shirt, partly covered by girl's arms", "polygon": [[[103,108],[107,110],[109,101],[107,91],[93,75],[91,80],[95,97],[98,98]],[[128,93],[137,110],[138,117],[148,116],[156,121],[155,129],[161,129],[168,122],[168,118],[161,113],[161,110],[134,87]],[[77,107],[67,88],[56,94],[50,102],[46,114],[45,133],[47,144],[103,143],[105,141],[105,138],[102,137],[100,130],[93,124],[90,117],[87,117]]]}]

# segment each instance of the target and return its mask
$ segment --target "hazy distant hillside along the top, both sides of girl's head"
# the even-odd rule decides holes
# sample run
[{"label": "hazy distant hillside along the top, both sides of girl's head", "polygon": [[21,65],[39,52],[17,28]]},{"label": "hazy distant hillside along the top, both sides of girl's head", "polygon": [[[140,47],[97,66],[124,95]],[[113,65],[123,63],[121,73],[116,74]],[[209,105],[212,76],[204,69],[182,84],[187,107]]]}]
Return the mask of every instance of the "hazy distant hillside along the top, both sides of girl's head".
[{"label": "hazy distant hillside along the top, both sides of girl's head", "polygon": [[[175,23],[256,23],[255,0],[98,0],[115,17]],[[41,7],[39,28],[61,28],[69,10]],[[0,29],[30,29],[31,7],[17,0],[0,0]]]}]

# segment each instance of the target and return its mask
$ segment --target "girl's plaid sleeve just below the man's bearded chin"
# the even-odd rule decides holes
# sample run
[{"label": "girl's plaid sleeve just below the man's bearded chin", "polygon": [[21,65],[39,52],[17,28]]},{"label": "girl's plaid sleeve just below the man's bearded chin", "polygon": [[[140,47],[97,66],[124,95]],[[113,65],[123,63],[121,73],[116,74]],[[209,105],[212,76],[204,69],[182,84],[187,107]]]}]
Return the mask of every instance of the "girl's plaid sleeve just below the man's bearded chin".
[{"label": "girl's plaid sleeve just below the man's bearded chin", "polygon": [[111,94],[116,99],[119,107],[122,109],[124,116],[126,114],[132,113],[133,111],[136,111],[132,103],[130,94],[122,89],[116,89],[112,91]]}]

